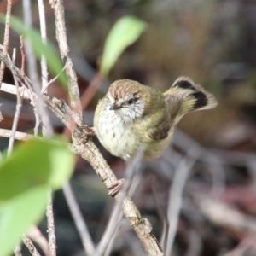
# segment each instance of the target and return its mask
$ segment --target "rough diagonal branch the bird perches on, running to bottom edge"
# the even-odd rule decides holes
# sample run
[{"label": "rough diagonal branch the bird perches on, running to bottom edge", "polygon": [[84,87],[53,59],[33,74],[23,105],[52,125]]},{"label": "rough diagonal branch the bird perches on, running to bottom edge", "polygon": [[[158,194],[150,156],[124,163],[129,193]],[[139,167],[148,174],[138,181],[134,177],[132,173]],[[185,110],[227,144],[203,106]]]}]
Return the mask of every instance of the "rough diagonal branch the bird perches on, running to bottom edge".
[{"label": "rough diagonal branch the bird perches on, running to bottom edge", "polygon": [[[4,61],[6,67],[11,67],[11,61],[3,55],[1,50],[0,59]],[[17,76],[17,79],[20,80],[21,84],[25,84],[27,87],[31,85],[30,80],[27,79],[26,76],[22,76],[19,68],[13,68],[13,72]],[[117,183],[117,178],[108,166],[106,160],[102,157],[98,148],[96,148],[96,145],[86,137],[83,129],[73,127],[73,123],[71,122],[71,109],[67,106],[67,103],[48,95],[44,95],[44,101],[47,107],[55,113],[61,122],[73,131],[73,152],[79,154],[84,160],[90,163],[107,189],[113,187],[113,185]],[[117,194],[114,199],[119,201],[120,196],[121,195]],[[137,207],[128,196],[125,197],[122,203],[122,210],[125,218],[130,222],[132,229],[136,232],[148,255],[163,255],[160,244],[152,233],[151,224],[148,222],[147,218],[141,216]]]}]

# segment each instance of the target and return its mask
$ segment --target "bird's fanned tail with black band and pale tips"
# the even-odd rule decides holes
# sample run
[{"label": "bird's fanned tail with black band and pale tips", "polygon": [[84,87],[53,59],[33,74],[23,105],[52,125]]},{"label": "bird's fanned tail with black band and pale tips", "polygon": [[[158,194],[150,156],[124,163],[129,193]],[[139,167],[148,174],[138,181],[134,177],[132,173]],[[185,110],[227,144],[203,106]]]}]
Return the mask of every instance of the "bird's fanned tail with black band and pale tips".
[{"label": "bird's fanned tail with black band and pale tips", "polygon": [[178,78],[164,95],[177,96],[181,100],[181,106],[178,110],[177,117],[182,117],[185,113],[215,108],[218,105],[216,98],[201,85],[195,84],[191,79],[186,77]]}]

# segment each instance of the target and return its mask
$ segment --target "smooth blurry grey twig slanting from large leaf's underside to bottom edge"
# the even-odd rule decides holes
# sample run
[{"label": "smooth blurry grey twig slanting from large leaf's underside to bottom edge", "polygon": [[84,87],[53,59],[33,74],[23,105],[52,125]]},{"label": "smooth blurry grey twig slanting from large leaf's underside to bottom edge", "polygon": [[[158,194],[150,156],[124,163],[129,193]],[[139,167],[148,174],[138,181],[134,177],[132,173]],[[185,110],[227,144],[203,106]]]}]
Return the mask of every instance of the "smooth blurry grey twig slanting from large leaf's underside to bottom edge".
[{"label": "smooth blurry grey twig slanting from large leaf's underside to bottom edge", "polygon": [[82,213],[80,212],[78,202],[76,201],[73,195],[73,191],[71,189],[70,184],[66,183],[62,189],[67,200],[69,210],[73,216],[74,223],[76,224],[77,230],[79,231],[79,236],[82,239],[84,252],[86,252],[89,256],[93,255],[95,247],[90,237],[90,233],[84,221]]}]

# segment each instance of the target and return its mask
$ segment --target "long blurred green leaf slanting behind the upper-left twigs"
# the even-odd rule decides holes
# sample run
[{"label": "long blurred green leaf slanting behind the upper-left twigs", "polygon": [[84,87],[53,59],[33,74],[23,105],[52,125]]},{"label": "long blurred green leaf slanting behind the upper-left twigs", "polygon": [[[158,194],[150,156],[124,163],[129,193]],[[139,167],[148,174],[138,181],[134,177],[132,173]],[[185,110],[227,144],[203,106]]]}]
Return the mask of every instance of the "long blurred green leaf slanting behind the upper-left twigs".
[{"label": "long blurred green leaf slanting behind the upper-left twigs", "polygon": [[[0,21],[4,22],[4,15],[0,15]],[[22,20],[16,18],[15,16],[11,17],[10,26],[15,30],[15,32],[23,35],[24,38],[29,41],[38,60],[41,60],[41,55],[45,56],[47,66],[49,67],[49,72],[52,73],[54,77],[60,74],[58,79],[60,80],[61,85],[67,89],[66,73],[61,72],[63,64],[61,62],[61,58],[55,50],[54,45],[50,42],[44,44],[38,30],[27,27]]]}]

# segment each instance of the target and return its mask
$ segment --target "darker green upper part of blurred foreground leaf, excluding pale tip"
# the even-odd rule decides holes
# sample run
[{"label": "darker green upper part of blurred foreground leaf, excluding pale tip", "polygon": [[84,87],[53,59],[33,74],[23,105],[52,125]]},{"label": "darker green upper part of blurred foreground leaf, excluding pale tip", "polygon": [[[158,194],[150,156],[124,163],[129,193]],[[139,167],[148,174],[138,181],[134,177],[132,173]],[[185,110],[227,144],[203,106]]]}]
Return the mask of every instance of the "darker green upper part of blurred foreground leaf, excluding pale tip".
[{"label": "darker green upper part of blurred foreground leaf, excluding pale tip", "polygon": [[0,202],[47,184],[50,177],[49,146],[31,140],[15,147],[0,162]]}]

